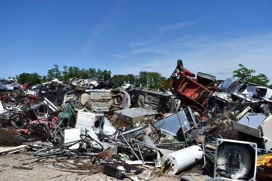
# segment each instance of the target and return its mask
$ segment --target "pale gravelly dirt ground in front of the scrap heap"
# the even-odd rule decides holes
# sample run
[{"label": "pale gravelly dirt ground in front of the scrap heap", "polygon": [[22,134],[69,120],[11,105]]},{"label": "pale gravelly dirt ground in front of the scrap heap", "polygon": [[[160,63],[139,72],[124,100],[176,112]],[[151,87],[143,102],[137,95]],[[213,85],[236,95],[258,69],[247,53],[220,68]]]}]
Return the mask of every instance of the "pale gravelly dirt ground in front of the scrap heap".
[{"label": "pale gravelly dirt ground in front of the scrap heap", "polygon": [[[33,152],[20,151],[17,154],[5,154],[0,155],[0,180],[119,180],[114,177],[107,176],[103,173],[95,173],[91,175],[78,175],[78,173],[71,173],[65,171],[55,170],[50,164],[43,165],[35,162],[36,159],[20,161],[20,159],[25,159],[33,156]],[[31,170],[14,168],[13,166],[24,166],[33,167]],[[154,170],[150,176],[149,180],[154,181],[170,181],[170,180],[180,180],[180,175],[177,176],[161,176],[159,169]],[[52,178],[54,176],[58,176]],[[131,180],[128,177],[122,180]]]}]

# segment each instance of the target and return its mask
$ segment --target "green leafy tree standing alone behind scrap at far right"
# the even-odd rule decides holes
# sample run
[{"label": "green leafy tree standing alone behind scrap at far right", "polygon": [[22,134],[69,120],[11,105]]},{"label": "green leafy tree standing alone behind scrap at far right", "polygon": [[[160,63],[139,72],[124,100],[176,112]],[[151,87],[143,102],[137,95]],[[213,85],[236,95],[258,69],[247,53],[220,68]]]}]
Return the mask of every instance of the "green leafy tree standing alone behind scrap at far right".
[{"label": "green leafy tree standing alone behind scrap at far right", "polygon": [[244,79],[248,82],[256,83],[259,85],[267,86],[267,83],[270,79],[266,75],[264,75],[263,73],[259,73],[258,75],[252,75],[252,73],[256,72],[255,70],[248,69],[242,64],[239,64],[239,66],[241,68],[233,71],[233,77]]}]

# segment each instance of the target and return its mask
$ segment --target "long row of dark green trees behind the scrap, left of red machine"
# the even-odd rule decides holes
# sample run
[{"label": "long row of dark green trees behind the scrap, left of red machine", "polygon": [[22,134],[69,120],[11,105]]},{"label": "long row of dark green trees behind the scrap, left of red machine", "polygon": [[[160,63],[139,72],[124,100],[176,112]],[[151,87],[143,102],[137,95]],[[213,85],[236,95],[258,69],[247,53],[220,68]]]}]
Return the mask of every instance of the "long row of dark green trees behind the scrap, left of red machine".
[{"label": "long row of dark green trees behind the scrap, left of red machine", "polygon": [[111,76],[110,70],[101,70],[95,68],[78,68],[76,66],[63,66],[63,69],[60,70],[58,65],[54,65],[54,68],[47,71],[47,75],[39,75],[39,73],[21,73],[16,75],[14,78],[18,83],[30,82],[32,85],[39,84],[42,82],[50,81],[54,78],[59,79],[60,81],[67,81],[69,78],[73,77],[82,77],[94,78],[97,80],[103,80],[105,78],[110,78],[114,81],[114,86],[121,86],[123,83],[130,83],[137,87],[148,86],[150,88],[159,88],[159,83],[165,81],[166,77],[163,77],[160,73],[157,72],[147,72],[141,71],[139,75],[133,74],[117,74]]}]

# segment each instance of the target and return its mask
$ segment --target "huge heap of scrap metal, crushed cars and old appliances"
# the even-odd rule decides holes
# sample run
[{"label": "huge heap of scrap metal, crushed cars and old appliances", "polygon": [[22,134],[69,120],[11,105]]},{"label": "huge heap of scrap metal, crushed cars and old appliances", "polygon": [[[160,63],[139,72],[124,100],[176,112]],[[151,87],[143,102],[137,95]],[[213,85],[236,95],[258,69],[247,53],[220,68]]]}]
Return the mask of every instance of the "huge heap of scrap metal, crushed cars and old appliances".
[{"label": "huge heap of scrap metal, crushed cars and old appliances", "polygon": [[272,89],[194,77],[178,60],[161,91],[73,78],[1,93],[0,144],[12,147],[0,153],[28,149],[28,159],[54,169],[118,179],[156,170],[182,180],[271,179]]}]

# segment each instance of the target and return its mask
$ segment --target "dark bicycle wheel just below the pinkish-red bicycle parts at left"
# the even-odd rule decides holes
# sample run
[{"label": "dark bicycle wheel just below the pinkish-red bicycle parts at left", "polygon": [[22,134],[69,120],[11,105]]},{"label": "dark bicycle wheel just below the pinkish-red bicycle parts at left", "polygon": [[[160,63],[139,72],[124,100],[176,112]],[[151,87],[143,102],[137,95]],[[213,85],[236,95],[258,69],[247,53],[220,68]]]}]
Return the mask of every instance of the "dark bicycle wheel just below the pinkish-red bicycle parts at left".
[{"label": "dark bicycle wheel just below the pinkish-red bicycle parts at left", "polygon": [[50,136],[50,129],[45,123],[38,123],[34,125],[31,136],[36,141],[46,141]]}]

